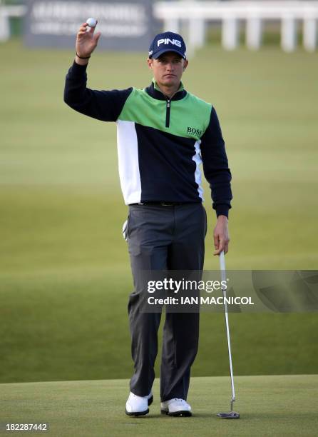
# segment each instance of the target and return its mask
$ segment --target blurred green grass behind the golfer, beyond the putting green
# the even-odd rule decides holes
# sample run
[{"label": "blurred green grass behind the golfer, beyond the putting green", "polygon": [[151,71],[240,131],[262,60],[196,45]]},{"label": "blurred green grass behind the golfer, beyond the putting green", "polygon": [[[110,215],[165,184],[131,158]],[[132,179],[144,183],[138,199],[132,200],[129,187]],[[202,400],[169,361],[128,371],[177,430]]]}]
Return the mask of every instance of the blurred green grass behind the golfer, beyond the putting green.
[{"label": "blurred green grass behind the golfer, beyond the putting green", "polygon": [[[63,103],[73,51],[0,45],[0,381],[128,378],[132,290],[116,127]],[[265,47],[190,59],[233,175],[227,267],[317,268],[317,54]],[[93,54],[88,85],[143,87],[143,54]],[[205,191],[212,256],[215,215]],[[315,314],[231,314],[240,375],[316,373]],[[120,345],[120,346],[118,346]],[[227,374],[222,315],[202,315],[195,376]]]}]

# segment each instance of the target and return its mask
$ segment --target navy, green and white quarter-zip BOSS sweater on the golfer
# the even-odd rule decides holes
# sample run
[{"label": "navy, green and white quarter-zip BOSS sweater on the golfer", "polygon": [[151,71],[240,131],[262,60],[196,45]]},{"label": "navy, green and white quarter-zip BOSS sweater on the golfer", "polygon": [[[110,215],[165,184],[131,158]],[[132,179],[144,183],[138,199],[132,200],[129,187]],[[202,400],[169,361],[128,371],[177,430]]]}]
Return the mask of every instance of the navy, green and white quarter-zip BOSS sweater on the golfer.
[{"label": "navy, green and white quarter-zip BOSS sweater on the golfer", "polygon": [[148,88],[95,91],[86,66],[73,63],[64,101],[81,114],[116,121],[120,185],[125,204],[201,202],[201,171],[213,208],[227,216],[231,174],[215,109],[180,89],[168,99],[153,81]]}]

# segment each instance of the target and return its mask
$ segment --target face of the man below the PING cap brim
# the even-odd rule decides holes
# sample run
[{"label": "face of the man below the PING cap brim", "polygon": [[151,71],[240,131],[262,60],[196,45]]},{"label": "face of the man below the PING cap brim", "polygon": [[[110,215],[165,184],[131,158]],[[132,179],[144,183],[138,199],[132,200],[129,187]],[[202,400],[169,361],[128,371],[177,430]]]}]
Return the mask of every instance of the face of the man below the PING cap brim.
[{"label": "face of the man below the PING cap brim", "polygon": [[174,51],[166,51],[158,59],[148,59],[148,66],[153,70],[153,77],[160,86],[178,86],[188,60]]}]

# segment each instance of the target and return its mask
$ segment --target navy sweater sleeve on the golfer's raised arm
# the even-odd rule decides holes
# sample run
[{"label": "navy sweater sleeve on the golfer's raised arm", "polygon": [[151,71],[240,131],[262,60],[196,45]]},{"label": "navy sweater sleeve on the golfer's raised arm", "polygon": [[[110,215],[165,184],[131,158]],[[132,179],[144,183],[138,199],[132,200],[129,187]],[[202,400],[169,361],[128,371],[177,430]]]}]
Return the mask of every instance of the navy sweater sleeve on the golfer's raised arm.
[{"label": "navy sweater sleeve on the golfer's raised arm", "polygon": [[74,61],[66,75],[64,101],[75,111],[101,121],[116,121],[132,88],[96,91],[86,87],[87,65]]}]

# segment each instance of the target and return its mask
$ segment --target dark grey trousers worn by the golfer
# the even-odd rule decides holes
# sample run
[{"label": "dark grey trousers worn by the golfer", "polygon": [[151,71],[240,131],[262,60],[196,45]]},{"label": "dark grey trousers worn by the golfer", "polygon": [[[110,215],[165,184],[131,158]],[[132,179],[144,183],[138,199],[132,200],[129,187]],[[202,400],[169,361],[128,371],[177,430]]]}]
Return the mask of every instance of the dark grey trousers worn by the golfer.
[{"label": "dark grey trousers worn by the golfer", "polygon": [[[207,217],[202,204],[130,205],[127,236],[134,291],[128,315],[135,373],[130,391],[147,396],[155,378],[161,313],[140,311],[140,270],[202,270]],[[187,399],[190,367],[198,352],[199,313],[166,313],[160,366],[160,398]]]}]

